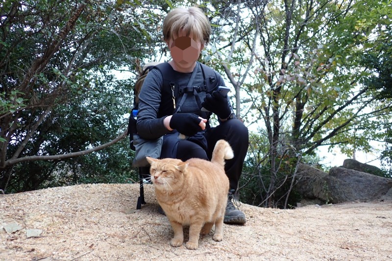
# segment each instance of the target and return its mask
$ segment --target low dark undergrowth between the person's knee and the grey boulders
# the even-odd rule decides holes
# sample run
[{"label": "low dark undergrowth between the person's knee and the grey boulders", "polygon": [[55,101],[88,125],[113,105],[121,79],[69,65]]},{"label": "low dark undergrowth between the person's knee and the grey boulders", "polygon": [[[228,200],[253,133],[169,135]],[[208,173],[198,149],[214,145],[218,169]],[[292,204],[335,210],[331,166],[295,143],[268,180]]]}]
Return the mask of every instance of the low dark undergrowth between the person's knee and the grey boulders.
[{"label": "low dark undergrowth between the person's knee and the grey boulders", "polygon": [[[295,166],[298,156],[290,147],[279,146],[281,154],[276,163],[278,170],[271,175],[271,159],[268,154],[268,139],[265,134],[250,133],[249,153],[240,179],[240,199],[242,202],[255,206],[290,208],[300,201],[299,194],[293,185],[296,180]],[[309,159],[308,159],[309,160]],[[294,179],[294,181],[293,181]],[[294,183],[292,183],[294,182]]]}]

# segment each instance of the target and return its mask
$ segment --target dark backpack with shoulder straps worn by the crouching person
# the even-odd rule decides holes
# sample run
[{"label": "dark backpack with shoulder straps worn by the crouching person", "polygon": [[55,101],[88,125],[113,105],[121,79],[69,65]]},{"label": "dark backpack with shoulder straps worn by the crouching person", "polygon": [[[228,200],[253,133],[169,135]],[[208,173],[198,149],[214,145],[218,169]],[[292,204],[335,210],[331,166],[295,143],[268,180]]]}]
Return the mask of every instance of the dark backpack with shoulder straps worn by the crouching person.
[{"label": "dark backpack with shoulder straps worn by the crouching person", "polygon": [[[137,133],[136,129],[136,114],[134,112],[138,110],[138,102],[139,102],[139,94],[143,86],[144,79],[147,76],[147,73],[152,69],[156,68],[161,72],[162,78],[163,78],[163,86],[161,87],[161,104],[160,108],[171,108],[172,103],[173,103],[173,93],[172,91],[174,90],[174,102],[177,104],[177,98],[179,96],[182,96],[183,98],[180,100],[180,104],[185,100],[184,97],[186,97],[188,94],[195,94],[199,92],[208,92],[211,93],[214,91],[219,84],[219,81],[217,80],[218,75],[216,72],[211,69],[210,67],[201,64],[201,71],[203,73],[203,78],[204,78],[204,86],[199,86],[197,88],[193,87],[192,89],[189,88],[179,88],[176,83],[175,83],[175,77],[174,77],[174,70],[172,69],[172,66],[169,63],[159,63],[159,62],[152,62],[152,63],[147,63],[143,67],[143,72],[141,76],[137,79],[135,83],[135,89],[134,89],[134,99],[133,99],[133,109],[131,111],[131,115],[129,116],[129,121],[128,121],[128,135],[129,135],[129,146],[132,150],[135,150],[135,146],[133,145],[133,134]],[[199,104],[199,107],[201,108],[201,101],[196,95],[196,101]],[[181,106],[181,105],[180,105]],[[137,113],[137,111],[136,111]],[[160,109],[158,112],[158,118],[163,117],[165,115],[171,115],[171,111],[164,111],[163,109]],[[203,117],[207,119],[207,115]]]}]

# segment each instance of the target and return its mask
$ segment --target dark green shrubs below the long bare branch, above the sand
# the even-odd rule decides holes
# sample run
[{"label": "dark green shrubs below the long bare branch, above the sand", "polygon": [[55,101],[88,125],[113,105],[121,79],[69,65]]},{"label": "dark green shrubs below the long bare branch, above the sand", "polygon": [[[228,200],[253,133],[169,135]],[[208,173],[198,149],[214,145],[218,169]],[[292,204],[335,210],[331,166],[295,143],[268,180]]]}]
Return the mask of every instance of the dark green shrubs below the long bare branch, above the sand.
[{"label": "dark green shrubs below the long bare branch, above the sand", "polygon": [[[131,168],[128,139],[97,153],[62,161],[24,162],[14,166],[7,193],[83,183],[129,183],[139,180]],[[26,169],[29,171],[26,172]]]}]

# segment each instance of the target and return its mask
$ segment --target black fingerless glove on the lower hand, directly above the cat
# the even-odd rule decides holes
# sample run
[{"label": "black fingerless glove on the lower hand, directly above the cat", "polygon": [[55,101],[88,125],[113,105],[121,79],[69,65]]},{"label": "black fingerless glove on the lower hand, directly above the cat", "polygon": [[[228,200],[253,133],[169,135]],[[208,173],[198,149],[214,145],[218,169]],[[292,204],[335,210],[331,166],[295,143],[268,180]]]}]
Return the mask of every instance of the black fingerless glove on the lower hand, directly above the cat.
[{"label": "black fingerless glove on the lower hand, directly above the cat", "polygon": [[201,131],[200,121],[201,119],[193,113],[175,113],[172,115],[169,125],[179,133],[192,137]]}]

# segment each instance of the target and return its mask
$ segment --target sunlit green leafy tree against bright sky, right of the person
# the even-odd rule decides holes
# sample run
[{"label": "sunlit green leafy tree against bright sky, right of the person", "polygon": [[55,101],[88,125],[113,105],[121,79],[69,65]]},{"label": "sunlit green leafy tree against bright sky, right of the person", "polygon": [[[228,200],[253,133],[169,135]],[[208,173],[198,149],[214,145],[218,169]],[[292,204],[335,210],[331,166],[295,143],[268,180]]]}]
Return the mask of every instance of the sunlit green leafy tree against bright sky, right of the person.
[{"label": "sunlit green leafy tree against bright sky, right of the person", "polygon": [[365,84],[372,71],[360,61],[364,54],[378,57],[377,46],[391,42],[390,1],[211,5],[221,11],[213,17],[221,25],[213,28],[213,40],[224,47],[205,55],[243,90],[236,93],[236,105],[237,112],[247,112],[245,122],[265,126],[268,152],[258,156],[262,145],[251,143],[250,157],[270,165],[267,197],[282,185],[279,159],[286,153],[312,156],[327,145],[352,155],[382,140],[392,103],[376,100],[380,91]]}]

